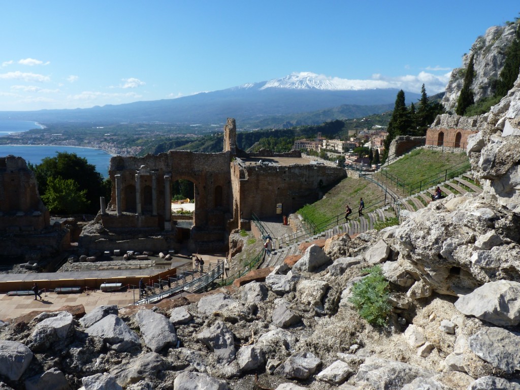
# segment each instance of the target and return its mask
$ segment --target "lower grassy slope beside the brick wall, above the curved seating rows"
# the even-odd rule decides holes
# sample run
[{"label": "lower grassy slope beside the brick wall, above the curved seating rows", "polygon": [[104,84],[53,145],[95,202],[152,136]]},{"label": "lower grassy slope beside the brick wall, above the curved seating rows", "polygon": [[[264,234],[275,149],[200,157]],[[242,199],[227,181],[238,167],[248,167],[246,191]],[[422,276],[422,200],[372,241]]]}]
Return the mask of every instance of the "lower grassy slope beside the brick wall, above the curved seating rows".
[{"label": "lower grassy slope beside the brick wall, above the curved seating rows", "polygon": [[350,206],[353,216],[357,215],[359,198],[363,198],[365,206],[368,207],[369,202],[382,195],[381,188],[370,181],[347,177],[330,189],[322,199],[313,204],[306,204],[298,213],[304,213],[315,224],[319,224],[338,214],[344,214],[345,204]]}]

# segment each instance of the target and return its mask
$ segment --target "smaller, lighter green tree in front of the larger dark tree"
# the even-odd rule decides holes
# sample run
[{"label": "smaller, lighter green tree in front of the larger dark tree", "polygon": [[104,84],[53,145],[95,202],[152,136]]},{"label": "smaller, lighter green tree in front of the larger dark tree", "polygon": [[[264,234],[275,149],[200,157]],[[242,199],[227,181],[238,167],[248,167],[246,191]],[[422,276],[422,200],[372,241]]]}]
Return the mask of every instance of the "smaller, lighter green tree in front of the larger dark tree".
[{"label": "smaller, lighter green tree in front of the larger dark tree", "polygon": [[88,207],[86,194],[74,180],[50,176],[42,200],[51,213],[77,214]]}]

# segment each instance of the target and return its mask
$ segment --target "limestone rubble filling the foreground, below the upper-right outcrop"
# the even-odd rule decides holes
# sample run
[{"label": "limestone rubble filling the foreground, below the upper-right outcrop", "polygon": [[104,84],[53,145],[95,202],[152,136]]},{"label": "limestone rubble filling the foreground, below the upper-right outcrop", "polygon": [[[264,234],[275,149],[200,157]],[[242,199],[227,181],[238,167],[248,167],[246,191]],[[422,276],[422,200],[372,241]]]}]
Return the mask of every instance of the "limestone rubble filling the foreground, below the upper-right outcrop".
[{"label": "limestone rubble filling the foreground, below the upper-right outcrop", "polygon": [[[517,218],[449,197],[198,302],[4,323],[0,389],[520,389]],[[374,264],[391,282],[384,329],[348,301]]]}]

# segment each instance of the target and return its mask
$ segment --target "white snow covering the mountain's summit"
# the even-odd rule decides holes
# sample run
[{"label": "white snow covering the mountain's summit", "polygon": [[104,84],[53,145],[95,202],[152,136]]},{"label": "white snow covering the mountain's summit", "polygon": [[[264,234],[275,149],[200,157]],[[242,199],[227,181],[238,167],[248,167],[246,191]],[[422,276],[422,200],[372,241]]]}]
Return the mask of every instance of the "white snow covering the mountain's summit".
[{"label": "white snow covering the mountain's summit", "polygon": [[294,72],[281,79],[269,80],[260,89],[267,88],[361,90],[388,88],[388,83],[382,80],[348,80],[313,72]]}]

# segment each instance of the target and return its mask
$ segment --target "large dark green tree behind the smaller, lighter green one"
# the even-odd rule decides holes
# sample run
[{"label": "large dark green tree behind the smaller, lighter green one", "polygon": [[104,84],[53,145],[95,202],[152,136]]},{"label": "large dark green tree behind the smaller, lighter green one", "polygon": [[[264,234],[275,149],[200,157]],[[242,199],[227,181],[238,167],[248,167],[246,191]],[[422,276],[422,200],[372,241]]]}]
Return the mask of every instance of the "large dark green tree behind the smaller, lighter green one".
[{"label": "large dark green tree behind the smaller, lighter green one", "polygon": [[58,176],[64,180],[75,181],[80,191],[85,190],[87,203],[78,212],[97,213],[99,197],[105,197],[107,202],[110,199],[111,181],[103,179],[93,164],[89,164],[83,157],[78,157],[76,153],[56,152],[55,157],[46,157],[41,164],[29,163],[28,166],[36,176],[40,193],[45,194],[49,179],[56,180]]}]

